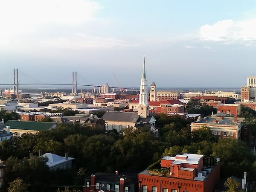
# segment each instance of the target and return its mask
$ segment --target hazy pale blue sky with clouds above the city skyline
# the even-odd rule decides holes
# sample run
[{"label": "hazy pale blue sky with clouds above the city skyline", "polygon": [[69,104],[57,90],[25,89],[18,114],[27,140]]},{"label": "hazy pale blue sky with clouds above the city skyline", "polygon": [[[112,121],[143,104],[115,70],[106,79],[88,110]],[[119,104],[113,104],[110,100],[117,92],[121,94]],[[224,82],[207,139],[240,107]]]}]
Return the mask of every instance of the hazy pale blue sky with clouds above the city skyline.
[{"label": "hazy pale blue sky with clouds above the city skyline", "polygon": [[[0,84],[241,87],[256,75],[255,0],[0,0]],[[116,75],[116,78],[114,76]]]}]

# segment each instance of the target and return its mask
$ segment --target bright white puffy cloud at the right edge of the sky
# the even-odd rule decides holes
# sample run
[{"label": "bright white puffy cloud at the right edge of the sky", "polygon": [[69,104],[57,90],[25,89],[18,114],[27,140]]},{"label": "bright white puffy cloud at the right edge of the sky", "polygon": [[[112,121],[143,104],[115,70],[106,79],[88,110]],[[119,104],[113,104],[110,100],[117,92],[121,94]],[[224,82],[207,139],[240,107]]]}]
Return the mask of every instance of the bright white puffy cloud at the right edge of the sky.
[{"label": "bright white puffy cloud at the right edge of the sky", "polygon": [[255,41],[256,18],[243,21],[221,20],[201,26],[200,35],[206,41]]}]

